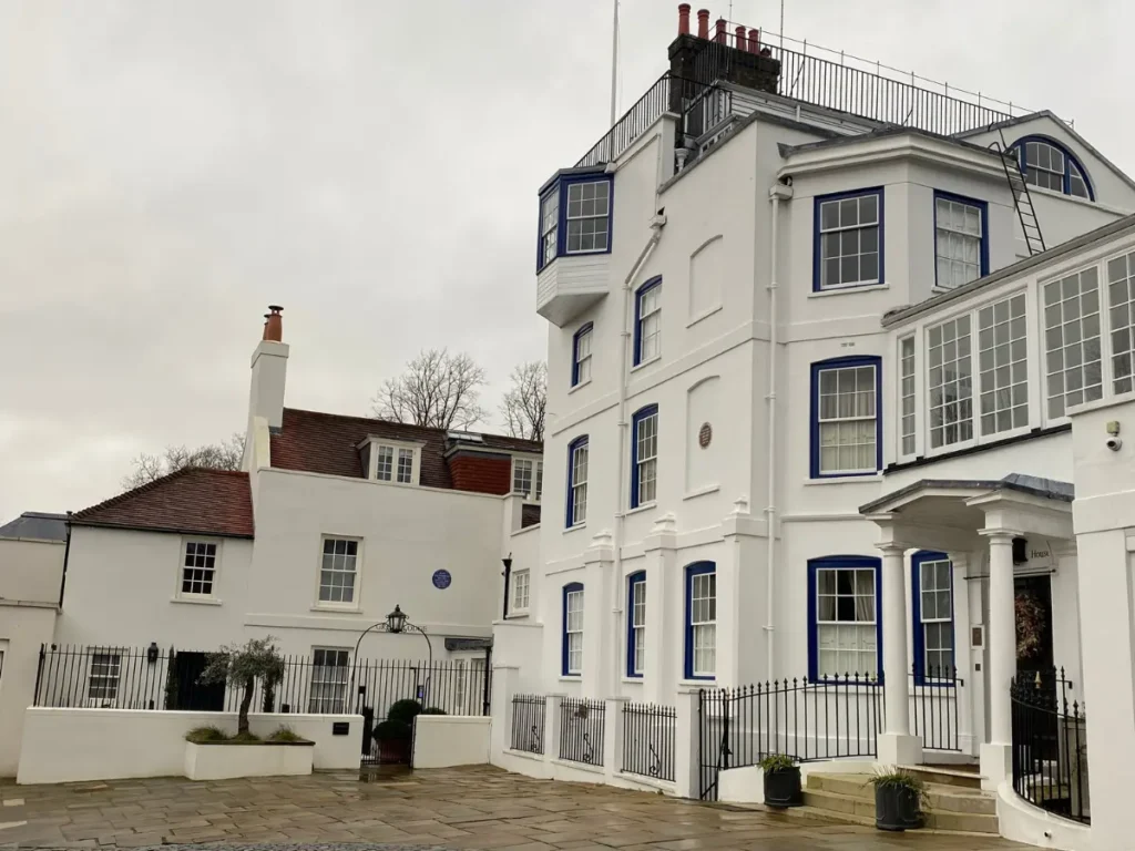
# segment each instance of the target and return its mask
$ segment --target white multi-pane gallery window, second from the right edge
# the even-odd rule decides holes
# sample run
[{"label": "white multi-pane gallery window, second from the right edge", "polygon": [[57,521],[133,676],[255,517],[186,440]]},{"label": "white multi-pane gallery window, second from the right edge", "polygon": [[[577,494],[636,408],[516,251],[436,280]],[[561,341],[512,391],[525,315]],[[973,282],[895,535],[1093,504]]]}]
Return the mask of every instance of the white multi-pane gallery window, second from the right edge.
[{"label": "white multi-pane gallery window, second from the right edge", "polygon": [[[1086,372],[1086,362],[1084,361],[1084,357],[1083,357],[1083,348],[1084,348],[1084,336],[1083,336],[1084,318],[1085,317],[1091,318],[1093,315],[1093,313],[1091,311],[1087,312],[1087,313],[1084,312],[1084,301],[1085,301],[1084,294],[1083,294],[1083,276],[1084,275],[1094,276],[1094,278],[1095,278],[1095,311],[1094,311],[1094,317],[1095,317],[1095,325],[1096,325],[1095,340],[1096,340],[1096,347],[1099,348],[1099,353],[1098,353],[1096,356],[1099,359],[1099,364],[1100,364],[1100,384],[1099,384],[1099,396],[1095,396],[1092,399],[1087,398],[1087,390],[1090,389],[1090,387],[1084,384],[1084,373]],[[1077,293],[1075,295],[1076,306],[1073,307],[1073,309],[1070,309],[1068,312],[1069,313],[1076,313],[1075,317],[1068,315],[1066,313],[1066,307],[1065,307],[1066,304],[1068,304],[1068,303],[1070,303],[1073,301],[1071,297],[1069,297],[1069,296],[1066,295],[1065,283],[1071,280],[1073,278],[1076,279],[1076,287],[1077,287]],[[1067,422],[1068,421],[1068,408],[1069,407],[1083,404],[1084,402],[1095,402],[1098,399],[1101,399],[1101,398],[1104,397],[1104,395],[1108,391],[1108,388],[1110,386],[1109,379],[1110,379],[1110,372],[1111,372],[1111,370],[1110,370],[1110,361],[1111,361],[1111,357],[1110,357],[1110,355],[1111,355],[1110,343],[1111,343],[1111,340],[1110,340],[1110,335],[1108,334],[1109,329],[1107,327],[1107,318],[1108,318],[1108,312],[1109,312],[1109,310],[1108,310],[1109,305],[1108,305],[1108,303],[1105,301],[1105,297],[1104,297],[1105,296],[1104,289],[1105,289],[1105,286],[1107,286],[1105,281],[1107,281],[1107,266],[1104,266],[1104,269],[1101,272],[1099,263],[1092,263],[1090,266],[1084,266],[1084,267],[1081,267],[1081,268],[1070,269],[1067,272],[1063,272],[1063,273],[1061,273],[1061,275],[1059,275],[1059,276],[1057,276],[1054,278],[1048,278],[1048,279],[1039,281],[1037,311],[1040,313],[1040,321],[1036,325],[1040,326],[1040,334],[1041,334],[1040,351],[1041,351],[1041,357],[1042,357],[1042,361],[1041,361],[1041,363],[1042,363],[1041,371],[1042,371],[1042,376],[1043,376],[1043,385],[1042,385],[1042,390],[1041,390],[1040,398],[1041,398],[1041,405],[1042,405],[1042,410],[1043,410],[1043,415],[1044,415],[1044,419],[1045,419],[1046,422],[1050,422],[1050,423]],[[1053,287],[1053,286],[1057,286],[1057,287],[1060,288],[1060,301],[1056,303],[1056,304],[1059,305],[1059,309],[1060,309],[1059,330],[1060,330],[1060,343],[1061,343],[1061,345],[1060,345],[1060,357],[1059,359],[1053,359],[1052,357],[1052,355],[1054,354],[1054,351],[1050,348],[1050,339],[1054,339],[1054,335],[1050,336],[1050,334],[1052,331],[1056,331],[1057,328],[1058,328],[1057,326],[1053,325],[1054,313],[1052,312],[1052,307],[1054,305],[1049,304],[1050,287]],[[1086,301],[1088,303],[1091,303],[1092,300],[1087,298]],[[1078,329],[1077,329],[1077,331],[1075,334],[1075,336],[1077,338],[1075,340],[1068,340],[1066,338],[1066,335],[1065,335],[1065,328],[1071,321],[1075,321],[1078,325]],[[1088,339],[1091,339],[1091,338],[1088,338]],[[1079,359],[1078,362],[1074,363],[1069,368],[1068,366],[1068,360],[1069,360],[1068,359],[1068,352],[1071,351],[1073,346],[1078,346],[1079,349],[1081,349],[1081,353],[1077,355],[1077,357]],[[1057,369],[1054,369],[1054,368],[1057,368]],[[1069,402],[1068,402],[1068,393],[1069,391],[1067,389],[1067,387],[1068,387],[1068,373],[1071,372],[1073,370],[1078,370],[1078,373],[1081,376],[1081,379],[1079,379],[1081,380],[1081,386],[1078,388],[1074,388],[1073,393],[1075,393],[1076,390],[1082,391],[1083,398],[1079,402],[1073,402],[1073,403],[1069,404]],[[1060,413],[1053,414],[1052,413],[1052,404],[1051,404],[1052,399],[1053,399],[1052,388],[1054,386],[1053,378],[1057,376],[1058,372],[1060,373],[1060,387],[1061,387],[1060,396],[1062,397],[1062,401],[1061,401]],[[1096,387],[1096,385],[1091,385],[1091,388],[1094,388],[1094,387]]]}]

